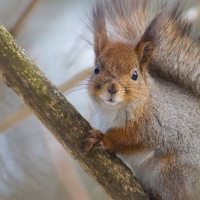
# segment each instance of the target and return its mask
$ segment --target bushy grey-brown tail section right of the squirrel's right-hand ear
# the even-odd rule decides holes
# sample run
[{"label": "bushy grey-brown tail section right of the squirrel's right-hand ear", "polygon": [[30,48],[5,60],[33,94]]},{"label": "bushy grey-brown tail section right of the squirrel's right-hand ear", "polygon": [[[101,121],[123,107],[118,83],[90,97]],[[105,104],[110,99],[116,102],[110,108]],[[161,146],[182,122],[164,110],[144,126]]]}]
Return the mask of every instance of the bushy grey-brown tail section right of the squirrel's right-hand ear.
[{"label": "bushy grey-brown tail section right of the squirrel's right-hand ear", "polygon": [[200,45],[199,36],[178,2],[163,9],[151,21],[144,34],[157,38],[157,47],[149,72],[200,95]]}]

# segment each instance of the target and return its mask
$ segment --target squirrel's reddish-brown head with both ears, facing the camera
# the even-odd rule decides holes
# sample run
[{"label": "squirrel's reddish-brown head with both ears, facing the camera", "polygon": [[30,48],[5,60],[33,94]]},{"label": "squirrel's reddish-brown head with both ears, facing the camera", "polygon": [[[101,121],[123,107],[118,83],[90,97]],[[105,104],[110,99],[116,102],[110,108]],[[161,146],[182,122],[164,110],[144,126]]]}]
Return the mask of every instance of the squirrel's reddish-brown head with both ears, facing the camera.
[{"label": "squirrel's reddish-brown head with both ears, facing the camera", "polygon": [[95,67],[88,83],[90,97],[105,106],[119,107],[127,103],[146,102],[147,66],[154,42],[147,34],[138,44],[116,42],[108,37],[106,20],[97,4],[93,13]]}]

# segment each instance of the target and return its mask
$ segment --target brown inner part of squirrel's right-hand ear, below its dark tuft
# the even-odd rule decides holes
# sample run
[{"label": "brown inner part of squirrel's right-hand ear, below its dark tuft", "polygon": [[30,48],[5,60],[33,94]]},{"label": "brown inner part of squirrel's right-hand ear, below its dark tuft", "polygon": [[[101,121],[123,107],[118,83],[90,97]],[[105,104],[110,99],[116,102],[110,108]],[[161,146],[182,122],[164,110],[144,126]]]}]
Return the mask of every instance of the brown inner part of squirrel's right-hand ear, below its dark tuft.
[{"label": "brown inner part of squirrel's right-hand ear, below its dark tuft", "polygon": [[136,46],[136,53],[138,55],[138,61],[142,75],[145,75],[147,66],[151,61],[154,51],[154,46],[155,45],[152,41],[148,42],[140,41]]}]

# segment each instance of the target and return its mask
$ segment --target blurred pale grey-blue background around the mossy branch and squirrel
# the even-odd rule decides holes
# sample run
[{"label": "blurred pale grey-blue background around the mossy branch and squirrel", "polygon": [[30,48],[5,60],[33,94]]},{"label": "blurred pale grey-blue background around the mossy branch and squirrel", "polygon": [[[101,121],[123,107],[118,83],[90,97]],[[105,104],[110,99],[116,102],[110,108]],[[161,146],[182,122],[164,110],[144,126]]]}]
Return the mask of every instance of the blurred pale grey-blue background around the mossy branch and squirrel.
[{"label": "blurred pale grey-blue background around the mossy branch and squirrel", "polygon": [[[0,23],[87,118],[88,97],[79,85],[92,71],[86,36],[89,0],[0,0]],[[200,0],[186,5],[199,26]],[[91,39],[92,40],[92,39]],[[0,200],[107,200],[81,169],[0,80]]]}]

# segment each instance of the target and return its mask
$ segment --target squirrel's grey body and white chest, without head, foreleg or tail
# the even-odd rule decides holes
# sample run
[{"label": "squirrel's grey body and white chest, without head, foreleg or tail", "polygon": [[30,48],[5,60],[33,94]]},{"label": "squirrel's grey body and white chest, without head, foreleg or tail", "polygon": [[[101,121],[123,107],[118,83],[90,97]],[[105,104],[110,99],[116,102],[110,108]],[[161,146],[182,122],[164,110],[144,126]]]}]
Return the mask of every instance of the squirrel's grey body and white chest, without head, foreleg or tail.
[{"label": "squirrel's grey body and white chest, without head, foreleg or tail", "polygon": [[[150,98],[145,105],[148,116],[140,132],[147,148],[118,155],[147,190],[163,193],[167,200],[198,200],[200,99],[159,78],[150,78],[148,85]],[[103,133],[126,126],[127,120],[135,120],[128,105],[116,109],[92,104],[90,111],[92,127]]]}]

